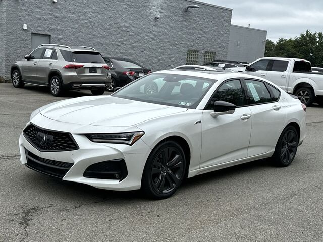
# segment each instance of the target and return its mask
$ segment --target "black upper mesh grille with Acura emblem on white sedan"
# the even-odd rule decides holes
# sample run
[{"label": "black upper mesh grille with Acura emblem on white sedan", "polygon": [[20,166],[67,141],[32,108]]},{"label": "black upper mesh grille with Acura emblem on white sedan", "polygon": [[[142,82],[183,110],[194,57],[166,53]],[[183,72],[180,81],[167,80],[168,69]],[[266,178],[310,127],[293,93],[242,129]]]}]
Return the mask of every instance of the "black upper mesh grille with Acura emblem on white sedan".
[{"label": "black upper mesh grille with Acura emblem on white sedan", "polygon": [[23,134],[39,151],[68,151],[79,148],[70,133],[45,130],[31,123],[24,129]]}]

